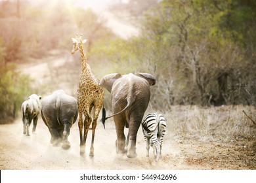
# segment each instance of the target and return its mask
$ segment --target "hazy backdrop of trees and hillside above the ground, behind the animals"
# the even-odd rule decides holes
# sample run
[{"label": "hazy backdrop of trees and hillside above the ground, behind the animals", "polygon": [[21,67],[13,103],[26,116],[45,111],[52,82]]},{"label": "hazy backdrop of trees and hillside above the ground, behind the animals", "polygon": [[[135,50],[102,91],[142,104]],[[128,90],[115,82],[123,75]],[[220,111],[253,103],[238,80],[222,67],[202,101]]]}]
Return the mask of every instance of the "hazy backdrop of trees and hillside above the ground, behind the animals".
[{"label": "hazy backdrop of trees and hillside above the ground, behind the animals", "polygon": [[[79,54],[70,55],[76,33],[87,39],[99,79],[155,75],[156,109],[255,106],[255,12],[249,0],[0,1],[0,121],[16,117],[31,93],[63,88],[76,95]],[[32,77],[28,65],[39,63],[50,72],[30,68]]]}]

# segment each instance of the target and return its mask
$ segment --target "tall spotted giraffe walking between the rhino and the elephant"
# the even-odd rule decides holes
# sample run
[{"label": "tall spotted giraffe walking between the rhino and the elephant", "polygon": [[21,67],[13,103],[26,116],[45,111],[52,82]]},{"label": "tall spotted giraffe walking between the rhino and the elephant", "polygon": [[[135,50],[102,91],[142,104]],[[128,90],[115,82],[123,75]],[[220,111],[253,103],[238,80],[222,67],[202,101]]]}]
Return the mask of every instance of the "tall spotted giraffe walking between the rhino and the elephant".
[{"label": "tall spotted giraffe walking between the rhino and the elephant", "polygon": [[[85,154],[85,142],[87,139],[87,134],[91,122],[93,121],[93,134],[91,139],[91,148],[90,148],[90,156],[94,156],[94,148],[93,143],[95,140],[95,128],[97,124],[98,115],[100,113],[100,109],[103,106],[104,101],[104,91],[99,86],[99,80],[93,75],[91,71],[91,67],[87,62],[87,57],[83,51],[83,44],[87,40],[82,40],[81,36],[78,38],[76,35],[75,38],[72,38],[73,41],[73,50],[72,54],[75,54],[76,50],[79,50],[81,54],[81,77],[79,81],[79,86],[77,89],[77,105],[79,112],[79,135],[80,135],[80,154]],[[91,110],[94,107],[93,112],[93,120],[91,117]],[[104,107],[102,109],[102,112]],[[83,122],[83,114],[85,116],[85,120]],[[103,119],[102,113],[102,119]],[[103,121],[102,121],[103,122]],[[103,122],[104,124],[104,122]],[[83,128],[84,127],[84,128]],[[83,131],[84,130],[84,131]]]}]

